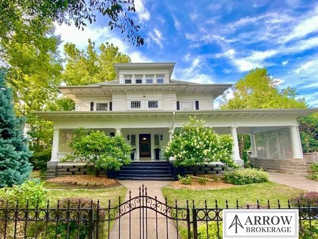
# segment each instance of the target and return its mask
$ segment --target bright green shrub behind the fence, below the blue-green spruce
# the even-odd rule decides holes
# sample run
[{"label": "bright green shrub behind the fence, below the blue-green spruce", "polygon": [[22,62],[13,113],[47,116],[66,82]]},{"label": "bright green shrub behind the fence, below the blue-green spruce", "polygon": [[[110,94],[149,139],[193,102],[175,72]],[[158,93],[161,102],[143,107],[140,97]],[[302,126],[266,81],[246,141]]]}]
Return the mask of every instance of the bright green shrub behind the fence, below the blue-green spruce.
[{"label": "bright green shrub behind the fence, below the blue-green spruce", "polygon": [[25,207],[28,203],[30,208],[46,206],[46,193],[44,182],[37,179],[30,179],[20,185],[4,187],[0,189],[0,206],[4,206],[6,201],[10,206],[15,206],[16,202],[20,207]]}]

